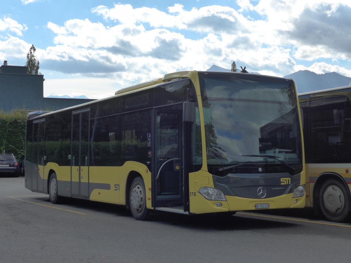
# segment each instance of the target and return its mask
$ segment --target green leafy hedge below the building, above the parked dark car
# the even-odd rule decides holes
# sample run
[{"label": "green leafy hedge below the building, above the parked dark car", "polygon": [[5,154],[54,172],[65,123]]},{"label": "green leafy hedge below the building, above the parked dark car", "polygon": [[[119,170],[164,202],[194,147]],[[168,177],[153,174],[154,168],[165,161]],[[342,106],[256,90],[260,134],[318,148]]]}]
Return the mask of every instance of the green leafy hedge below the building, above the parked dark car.
[{"label": "green leafy hedge below the building, above the parked dark car", "polygon": [[24,159],[26,110],[0,110],[0,153],[13,153],[19,163]]}]

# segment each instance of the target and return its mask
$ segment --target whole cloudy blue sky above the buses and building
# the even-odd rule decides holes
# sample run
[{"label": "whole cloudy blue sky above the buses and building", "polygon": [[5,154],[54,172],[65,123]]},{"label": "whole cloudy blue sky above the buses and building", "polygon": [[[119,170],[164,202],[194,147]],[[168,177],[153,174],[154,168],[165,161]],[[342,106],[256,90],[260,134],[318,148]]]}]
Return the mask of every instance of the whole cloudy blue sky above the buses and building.
[{"label": "whole cloudy blue sky above the buses and building", "polygon": [[112,96],[212,65],[351,77],[350,0],[0,0],[0,65],[34,45],[44,96]]}]

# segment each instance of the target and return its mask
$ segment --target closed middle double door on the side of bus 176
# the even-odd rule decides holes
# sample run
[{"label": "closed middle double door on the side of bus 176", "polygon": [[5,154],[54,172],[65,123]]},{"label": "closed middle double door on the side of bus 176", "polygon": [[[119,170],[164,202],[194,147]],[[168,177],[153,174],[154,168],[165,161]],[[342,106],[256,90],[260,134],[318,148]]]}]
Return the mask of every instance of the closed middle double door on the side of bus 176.
[{"label": "closed middle double door on the side of bus 176", "polygon": [[89,121],[89,109],[72,113],[72,197],[84,199],[89,198]]}]

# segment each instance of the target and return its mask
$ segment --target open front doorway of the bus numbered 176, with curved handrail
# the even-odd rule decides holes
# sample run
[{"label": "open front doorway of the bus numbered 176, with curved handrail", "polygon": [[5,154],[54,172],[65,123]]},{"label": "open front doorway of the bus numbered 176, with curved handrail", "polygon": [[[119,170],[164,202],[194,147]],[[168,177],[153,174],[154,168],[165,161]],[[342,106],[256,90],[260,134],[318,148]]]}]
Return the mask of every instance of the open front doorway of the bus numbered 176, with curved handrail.
[{"label": "open front doorway of the bus numbered 176, with curved handrail", "polygon": [[183,209],[181,110],[155,109],[152,137],[153,207]]}]

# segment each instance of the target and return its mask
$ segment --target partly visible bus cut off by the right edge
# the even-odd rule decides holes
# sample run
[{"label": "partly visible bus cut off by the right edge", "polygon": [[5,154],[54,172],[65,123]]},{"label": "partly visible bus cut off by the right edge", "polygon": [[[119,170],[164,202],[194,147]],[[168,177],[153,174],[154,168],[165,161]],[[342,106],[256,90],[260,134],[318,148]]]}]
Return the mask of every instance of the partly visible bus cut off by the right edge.
[{"label": "partly visible bus cut off by the right edge", "polygon": [[350,99],[351,86],[299,94],[306,158],[306,206],[334,222],[350,218]]}]

